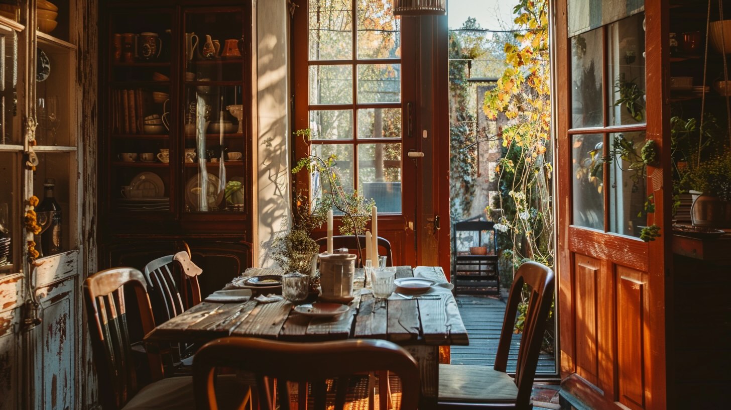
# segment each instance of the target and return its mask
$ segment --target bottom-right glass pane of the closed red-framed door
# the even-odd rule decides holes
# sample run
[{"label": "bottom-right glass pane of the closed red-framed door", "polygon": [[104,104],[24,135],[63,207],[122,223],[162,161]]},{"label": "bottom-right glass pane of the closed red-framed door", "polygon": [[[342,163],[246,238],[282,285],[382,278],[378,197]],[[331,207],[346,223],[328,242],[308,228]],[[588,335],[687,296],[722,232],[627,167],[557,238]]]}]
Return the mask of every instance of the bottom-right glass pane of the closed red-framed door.
[{"label": "bottom-right glass pane of the closed red-framed door", "polygon": [[401,212],[401,143],[358,146],[358,187],[379,212]]}]

